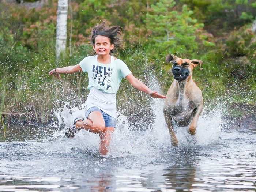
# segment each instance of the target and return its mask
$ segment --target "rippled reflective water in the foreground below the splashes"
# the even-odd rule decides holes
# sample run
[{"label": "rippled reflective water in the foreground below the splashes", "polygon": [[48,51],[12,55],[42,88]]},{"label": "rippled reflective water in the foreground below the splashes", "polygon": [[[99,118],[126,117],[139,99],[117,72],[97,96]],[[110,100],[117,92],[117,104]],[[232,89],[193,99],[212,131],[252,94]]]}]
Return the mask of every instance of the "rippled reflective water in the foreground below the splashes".
[{"label": "rippled reflective water in the foreground below the splashes", "polygon": [[255,132],[221,134],[214,144],[114,158],[77,139],[1,142],[0,191],[255,191]]}]

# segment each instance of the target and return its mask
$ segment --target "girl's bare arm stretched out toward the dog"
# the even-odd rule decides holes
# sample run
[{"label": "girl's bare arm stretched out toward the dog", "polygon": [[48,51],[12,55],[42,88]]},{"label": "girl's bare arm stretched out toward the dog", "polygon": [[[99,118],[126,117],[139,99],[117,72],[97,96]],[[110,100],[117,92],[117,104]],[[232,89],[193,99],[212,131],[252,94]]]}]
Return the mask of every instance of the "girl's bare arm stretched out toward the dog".
[{"label": "girl's bare arm stretched out toward the dog", "polygon": [[166,98],[166,96],[157,93],[157,91],[152,91],[151,89],[149,89],[144,83],[142,83],[139,79],[136,79],[132,74],[127,75],[125,79],[127,79],[134,88],[149,94],[151,97],[161,99]]}]

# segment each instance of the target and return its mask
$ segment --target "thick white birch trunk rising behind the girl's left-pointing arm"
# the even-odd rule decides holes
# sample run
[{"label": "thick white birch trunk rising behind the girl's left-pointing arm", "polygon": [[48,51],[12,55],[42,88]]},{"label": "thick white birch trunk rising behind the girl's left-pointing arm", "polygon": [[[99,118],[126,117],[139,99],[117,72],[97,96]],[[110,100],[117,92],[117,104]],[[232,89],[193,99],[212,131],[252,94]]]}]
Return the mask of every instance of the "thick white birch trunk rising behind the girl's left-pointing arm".
[{"label": "thick white birch trunk rising behind the girl's left-pointing arm", "polygon": [[57,26],[56,26],[56,58],[59,59],[60,53],[65,51],[67,42],[67,18],[68,0],[58,1]]}]

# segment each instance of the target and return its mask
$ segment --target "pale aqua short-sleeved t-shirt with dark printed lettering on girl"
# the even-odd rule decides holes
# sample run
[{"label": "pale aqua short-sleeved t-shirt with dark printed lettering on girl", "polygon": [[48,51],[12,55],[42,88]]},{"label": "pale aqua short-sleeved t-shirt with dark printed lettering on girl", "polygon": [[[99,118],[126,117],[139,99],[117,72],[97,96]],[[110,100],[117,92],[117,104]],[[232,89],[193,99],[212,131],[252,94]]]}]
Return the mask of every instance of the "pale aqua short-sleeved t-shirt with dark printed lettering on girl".
[{"label": "pale aqua short-sleeved t-shirt with dark printed lettering on girl", "polygon": [[120,82],[131,71],[120,59],[114,60],[111,56],[110,64],[102,64],[97,61],[97,55],[85,57],[80,63],[83,72],[88,73],[88,89],[95,87],[105,93],[114,93],[119,89]]}]

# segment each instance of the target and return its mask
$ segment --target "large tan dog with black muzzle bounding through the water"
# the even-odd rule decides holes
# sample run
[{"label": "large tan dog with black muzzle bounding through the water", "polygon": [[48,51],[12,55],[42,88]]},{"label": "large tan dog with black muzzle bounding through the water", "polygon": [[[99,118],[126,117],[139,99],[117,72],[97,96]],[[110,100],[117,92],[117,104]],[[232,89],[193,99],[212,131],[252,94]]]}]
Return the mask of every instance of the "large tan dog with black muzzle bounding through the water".
[{"label": "large tan dog with black muzzle bounding through the water", "polygon": [[177,146],[178,140],[173,131],[174,121],[178,126],[189,126],[190,134],[196,133],[197,121],[203,108],[203,97],[202,91],[193,82],[192,72],[193,68],[201,66],[203,61],[182,59],[169,54],[166,56],[166,62],[173,64],[174,80],[166,95],[163,113],[172,144]]}]

